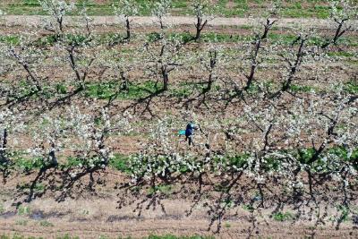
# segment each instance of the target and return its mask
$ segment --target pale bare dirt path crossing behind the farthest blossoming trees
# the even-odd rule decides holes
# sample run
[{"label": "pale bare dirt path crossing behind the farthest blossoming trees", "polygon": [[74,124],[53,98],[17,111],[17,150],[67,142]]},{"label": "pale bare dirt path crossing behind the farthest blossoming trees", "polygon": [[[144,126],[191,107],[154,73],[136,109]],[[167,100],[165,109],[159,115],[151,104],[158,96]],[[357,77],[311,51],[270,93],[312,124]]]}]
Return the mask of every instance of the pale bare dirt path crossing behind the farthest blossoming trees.
[{"label": "pale bare dirt path crossing behind the farthest blossoming trees", "polygon": [[[23,26],[38,26],[41,22],[46,21],[48,16],[37,15],[6,15],[3,20],[0,19],[2,25],[7,26],[23,25]],[[113,25],[122,23],[119,18],[115,16],[94,16],[92,17],[94,25]],[[78,16],[67,17],[64,20],[67,25],[77,25],[81,23],[81,18]],[[188,25],[194,24],[195,19],[189,16],[171,16],[164,20],[165,24],[169,25]],[[209,21],[211,26],[247,26],[252,24],[258,24],[259,19],[255,18],[222,18],[217,17]],[[132,23],[137,25],[154,25],[158,24],[153,17],[132,17]],[[354,30],[358,29],[358,20],[351,21],[354,26]],[[283,18],[277,21],[277,27],[279,28],[292,28],[294,26],[314,26],[319,29],[332,29],[335,28],[335,24],[329,20],[322,19],[309,19],[309,18]]]}]

